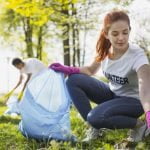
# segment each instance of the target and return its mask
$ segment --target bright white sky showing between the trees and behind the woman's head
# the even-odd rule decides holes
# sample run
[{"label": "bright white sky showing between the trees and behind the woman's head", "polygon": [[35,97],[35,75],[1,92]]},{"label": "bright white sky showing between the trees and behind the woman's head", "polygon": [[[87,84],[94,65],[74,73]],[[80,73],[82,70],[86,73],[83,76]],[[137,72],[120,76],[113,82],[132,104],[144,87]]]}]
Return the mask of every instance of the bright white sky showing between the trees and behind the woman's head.
[{"label": "bright white sky showing between the trees and behind the woman's head", "polygon": [[[111,8],[114,5],[110,5]],[[110,8],[108,8],[109,10]],[[137,35],[143,35],[146,38],[150,38],[149,32],[143,32],[144,29],[140,28],[140,19],[143,18],[148,20],[147,26],[149,27],[150,31],[150,2],[149,0],[134,0],[133,4],[128,8],[132,16],[131,18],[131,26],[132,26],[132,38]],[[93,30],[87,33],[86,38],[86,62],[85,64],[89,64],[92,60],[92,57],[95,54],[95,45],[99,35],[99,31]],[[55,43],[55,41],[51,41]],[[1,43],[1,39],[0,39]],[[56,45],[56,47],[55,47]],[[55,51],[55,49],[59,49],[60,47],[57,44],[53,45],[52,47],[54,54],[52,52],[49,53],[49,56],[52,58],[52,62],[63,62],[62,57],[60,56],[60,51]],[[0,94],[6,93],[10,91],[17,81],[19,80],[19,71],[11,65],[11,61],[14,57],[19,57],[20,54],[13,50],[12,46],[3,46],[0,45]],[[99,75],[102,75],[101,72],[98,72]],[[17,92],[20,90],[18,88]]]}]

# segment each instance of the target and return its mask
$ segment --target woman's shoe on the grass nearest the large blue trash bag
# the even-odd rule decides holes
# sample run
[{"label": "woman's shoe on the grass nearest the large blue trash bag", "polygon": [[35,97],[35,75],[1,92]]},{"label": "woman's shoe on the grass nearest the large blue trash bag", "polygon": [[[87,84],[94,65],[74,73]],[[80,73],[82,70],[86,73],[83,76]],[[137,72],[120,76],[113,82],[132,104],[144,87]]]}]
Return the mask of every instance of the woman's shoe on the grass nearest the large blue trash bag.
[{"label": "woman's shoe on the grass nearest the large blue trash bag", "polygon": [[89,130],[86,132],[86,138],[84,138],[83,142],[89,142],[91,140],[98,139],[99,137],[102,137],[103,135],[103,129],[95,129],[93,127],[90,127]]}]

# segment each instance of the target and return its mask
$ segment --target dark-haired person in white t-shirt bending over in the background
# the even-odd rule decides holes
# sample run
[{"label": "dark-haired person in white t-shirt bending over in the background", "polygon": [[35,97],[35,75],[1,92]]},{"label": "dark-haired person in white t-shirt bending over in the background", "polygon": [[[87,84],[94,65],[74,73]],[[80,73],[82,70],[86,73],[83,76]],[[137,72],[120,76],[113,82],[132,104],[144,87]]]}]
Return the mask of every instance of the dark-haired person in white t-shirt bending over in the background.
[{"label": "dark-haired person in white t-shirt bending over in the background", "polygon": [[22,83],[23,74],[27,75],[26,81],[25,81],[23,88],[21,90],[20,97],[22,96],[23,91],[24,91],[27,83],[29,82],[29,80],[32,77],[34,77],[37,73],[39,73],[42,70],[47,68],[47,66],[42,61],[40,61],[36,58],[28,58],[25,60],[22,60],[20,58],[14,58],[12,60],[12,65],[20,70],[19,82],[17,83],[17,85],[13,89],[16,89]]}]

